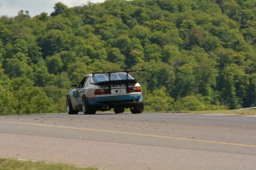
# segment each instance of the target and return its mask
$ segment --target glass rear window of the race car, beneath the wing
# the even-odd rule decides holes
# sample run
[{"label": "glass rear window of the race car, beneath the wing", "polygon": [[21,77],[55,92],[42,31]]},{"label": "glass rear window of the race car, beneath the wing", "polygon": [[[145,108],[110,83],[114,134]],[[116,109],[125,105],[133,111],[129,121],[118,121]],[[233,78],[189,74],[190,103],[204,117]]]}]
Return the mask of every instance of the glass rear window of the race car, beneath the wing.
[{"label": "glass rear window of the race car, beneath the wing", "polygon": [[[127,73],[125,72],[111,73],[111,81],[125,81],[125,80],[127,80]],[[128,80],[135,80],[135,79],[128,74]],[[91,83],[109,81],[109,75],[108,73],[95,74],[92,77],[91,81],[92,81]]]}]

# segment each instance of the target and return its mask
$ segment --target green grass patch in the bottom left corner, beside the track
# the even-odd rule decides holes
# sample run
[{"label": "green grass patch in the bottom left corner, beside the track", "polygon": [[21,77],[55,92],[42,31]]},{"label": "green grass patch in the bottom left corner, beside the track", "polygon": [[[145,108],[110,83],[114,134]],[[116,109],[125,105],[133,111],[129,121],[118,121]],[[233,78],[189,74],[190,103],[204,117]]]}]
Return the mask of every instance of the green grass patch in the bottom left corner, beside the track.
[{"label": "green grass patch in the bottom left corner, beside the track", "polygon": [[96,168],[79,168],[64,163],[46,163],[30,160],[15,160],[12,158],[0,158],[0,170],[97,170]]}]

